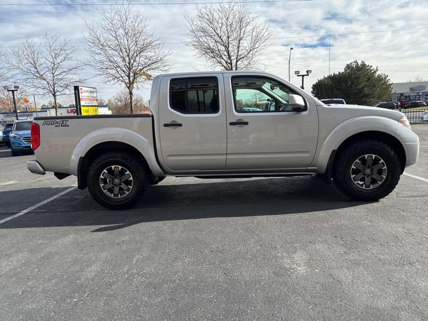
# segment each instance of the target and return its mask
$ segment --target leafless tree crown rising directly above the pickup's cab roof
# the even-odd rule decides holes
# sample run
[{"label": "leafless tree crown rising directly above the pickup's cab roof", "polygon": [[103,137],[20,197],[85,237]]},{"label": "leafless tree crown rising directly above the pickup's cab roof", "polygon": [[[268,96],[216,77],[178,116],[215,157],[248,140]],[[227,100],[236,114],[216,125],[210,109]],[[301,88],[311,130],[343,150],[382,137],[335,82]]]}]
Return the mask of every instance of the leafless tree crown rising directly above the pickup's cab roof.
[{"label": "leafless tree crown rising directly above the pickup's cab roof", "polygon": [[259,56],[269,44],[269,25],[257,23],[244,2],[196,6],[194,17],[185,14],[186,45],[205,58],[211,68],[248,70],[257,68]]}]

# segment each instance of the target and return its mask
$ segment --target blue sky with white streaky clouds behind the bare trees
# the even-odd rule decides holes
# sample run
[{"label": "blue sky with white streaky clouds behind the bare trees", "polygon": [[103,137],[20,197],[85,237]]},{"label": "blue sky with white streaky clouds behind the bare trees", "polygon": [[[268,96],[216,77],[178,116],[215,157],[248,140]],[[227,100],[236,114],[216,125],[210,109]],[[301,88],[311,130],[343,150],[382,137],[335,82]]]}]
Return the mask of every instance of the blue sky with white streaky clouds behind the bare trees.
[{"label": "blue sky with white streaky clouds behind the bare trees", "polygon": [[[212,70],[207,68],[203,58],[195,56],[191,48],[183,43],[168,44],[187,40],[183,16],[184,13],[195,13],[195,4],[159,4],[178,1],[195,2],[134,0],[134,9],[141,12],[146,17],[149,28],[162,37],[164,48],[172,51],[169,56],[171,72]],[[41,3],[56,6],[28,5]],[[103,7],[79,5],[83,3],[104,3],[104,8],[107,8],[115,0],[1,1],[0,45],[6,48],[17,46],[27,36],[41,42],[46,31],[59,37],[69,36],[73,45],[81,45],[83,34],[86,33],[85,21],[100,21]],[[362,33],[428,27],[428,1],[312,0],[248,3],[248,8],[259,16],[258,21],[267,21],[273,33],[270,45],[260,59],[265,65],[264,68],[261,66],[262,69],[288,80],[288,56],[293,47],[291,82],[300,86],[301,77],[295,76],[294,71],[311,69],[312,74],[305,77],[305,89],[308,92],[317,79],[329,74],[329,39],[331,73],[342,71],[348,62],[364,60],[370,65],[378,66],[380,71],[389,75],[392,82],[405,82],[416,76],[428,79],[428,28]],[[344,33],[360,34],[322,36]],[[79,47],[76,56],[78,59],[85,59],[86,52]],[[93,71],[85,68],[82,75],[92,77]],[[97,87],[98,98],[105,100],[122,89],[119,85],[104,85],[101,78],[97,77],[92,78],[88,85]],[[147,100],[150,86],[136,92]],[[42,103],[51,100],[49,97],[36,99]]]}]

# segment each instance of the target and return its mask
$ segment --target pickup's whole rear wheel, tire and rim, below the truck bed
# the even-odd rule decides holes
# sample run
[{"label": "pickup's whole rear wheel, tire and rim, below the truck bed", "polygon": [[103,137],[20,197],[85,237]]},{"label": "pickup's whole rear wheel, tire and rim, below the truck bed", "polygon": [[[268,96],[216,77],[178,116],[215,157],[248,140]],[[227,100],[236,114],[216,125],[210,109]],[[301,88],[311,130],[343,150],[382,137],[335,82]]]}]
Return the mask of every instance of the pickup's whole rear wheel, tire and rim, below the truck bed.
[{"label": "pickup's whole rear wheel, tire and rim, below the truck bed", "polygon": [[132,154],[108,152],[91,164],[88,189],[98,204],[121,210],[134,206],[149,189],[146,166]]}]

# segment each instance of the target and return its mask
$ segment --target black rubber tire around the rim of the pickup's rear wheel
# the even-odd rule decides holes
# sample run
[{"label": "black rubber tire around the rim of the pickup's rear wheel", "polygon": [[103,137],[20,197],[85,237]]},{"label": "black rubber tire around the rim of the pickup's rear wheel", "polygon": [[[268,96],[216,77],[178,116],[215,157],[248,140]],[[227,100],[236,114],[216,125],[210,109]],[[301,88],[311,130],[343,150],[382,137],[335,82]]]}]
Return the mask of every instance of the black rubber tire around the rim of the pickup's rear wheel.
[{"label": "black rubber tire around the rim of the pickup's rear wheel", "polygon": [[[100,175],[108,166],[123,166],[131,173],[134,185],[128,195],[115,199],[104,193]],[[123,210],[133,207],[149,190],[149,174],[146,165],[136,156],[126,152],[107,152],[93,161],[87,173],[88,190],[93,199],[105,208]]]}]

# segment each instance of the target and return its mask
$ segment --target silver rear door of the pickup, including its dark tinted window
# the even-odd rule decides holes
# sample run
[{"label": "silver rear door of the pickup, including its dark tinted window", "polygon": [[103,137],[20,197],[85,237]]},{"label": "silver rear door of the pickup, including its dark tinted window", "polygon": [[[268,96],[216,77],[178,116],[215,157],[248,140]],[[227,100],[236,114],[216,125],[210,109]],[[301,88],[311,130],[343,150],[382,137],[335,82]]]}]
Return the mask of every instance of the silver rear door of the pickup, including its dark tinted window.
[{"label": "silver rear door of the pickup, including its dark tinted window", "polygon": [[171,171],[226,167],[223,74],[161,79],[158,128],[163,165]]}]

